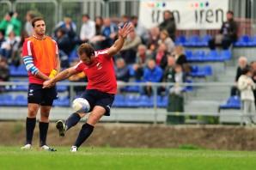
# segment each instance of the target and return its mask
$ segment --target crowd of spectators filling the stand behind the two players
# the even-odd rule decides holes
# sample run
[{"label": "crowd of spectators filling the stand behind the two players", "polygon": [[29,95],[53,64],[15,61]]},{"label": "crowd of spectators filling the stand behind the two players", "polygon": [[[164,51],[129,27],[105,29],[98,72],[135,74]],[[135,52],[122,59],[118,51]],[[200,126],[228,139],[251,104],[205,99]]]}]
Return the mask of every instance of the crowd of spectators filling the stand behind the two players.
[{"label": "crowd of spectators filling the stand behind the two players", "polygon": [[[21,64],[21,46],[28,36],[33,35],[30,22],[35,16],[34,11],[27,11],[26,22],[22,26],[18,14],[9,12],[0,22],[1,71],[8,70],[11,64]],[[58,22],[52,31],[52,38],[58,44],[61,67],[68,68],[78,62],[76,47],[84,42],[91,44],[96,50],[112,46],[118,38],[118,27],[122,27],[126,22],[131,22],[135,29],[128,35],[121,51],[114,56],[119,83],[149,82],[149,86],[144,88],[142,93],[151,95],[150,82],[185,82],[191,67],[186,60],[184,47],[174,44],[176,25],[170,10],[164,11],[162,23],[149,29],[143,27],[136,15],[123,15],[119,21],[96,16],[93,21],[85,14],[81,17],[82,26],[79,29],[70,16],[64,16],[64,20]],[[209,41],[210,49],[214,49],[216,45],[221,45],[223,49],[229,48],[232,42],[235,42],[236,32],[237,25],[233,12],[228,11],[227,21],[223,22],[220,34]],[[134,71],[134,75],[131,75],[131,70]],[[177,70],[179,73],[176,73]],[[3,78],[1,80],[3,81]],[[4,77],[4,80],[8,78]],[[81,80],[76,77],[70,78],[70,81]],[[179,89],[181,90],[180,87],[175,90],[160,88],[158,92],[170,91],[177,94]]]}]

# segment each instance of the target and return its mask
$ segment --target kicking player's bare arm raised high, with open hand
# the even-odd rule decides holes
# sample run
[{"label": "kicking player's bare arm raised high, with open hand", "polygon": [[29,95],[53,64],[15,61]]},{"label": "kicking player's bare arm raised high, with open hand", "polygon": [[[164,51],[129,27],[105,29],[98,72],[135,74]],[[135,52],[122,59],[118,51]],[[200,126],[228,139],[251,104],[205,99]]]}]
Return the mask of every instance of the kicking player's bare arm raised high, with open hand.
[{"label": "kicking player's bare arm raised high, with open hand", "polygon": [[113,46],[107,50],[109,56],[113,56],[118,53],[124,46],[125,39],[129,33],[134,29],[131,23],[125,23],[124,27],[119,27],[119,39],[117,39]]}]

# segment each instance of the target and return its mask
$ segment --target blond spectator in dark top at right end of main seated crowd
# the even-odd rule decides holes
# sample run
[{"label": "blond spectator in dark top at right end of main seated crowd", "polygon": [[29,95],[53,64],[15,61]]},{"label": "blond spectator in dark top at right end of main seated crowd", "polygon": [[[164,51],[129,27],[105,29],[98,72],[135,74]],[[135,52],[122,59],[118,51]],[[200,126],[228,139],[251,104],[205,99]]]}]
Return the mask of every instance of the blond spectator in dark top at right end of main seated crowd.
[{"label": "blond spectator in dark top at right end of main seated crowd", "polygon": [[186,55],[183,46],[175,46],[174,52],[172,54],[176,60],[176,64],[181,65],[182,70],[184,71],[186,76],[189,75],[191,68],[186,60]]}]

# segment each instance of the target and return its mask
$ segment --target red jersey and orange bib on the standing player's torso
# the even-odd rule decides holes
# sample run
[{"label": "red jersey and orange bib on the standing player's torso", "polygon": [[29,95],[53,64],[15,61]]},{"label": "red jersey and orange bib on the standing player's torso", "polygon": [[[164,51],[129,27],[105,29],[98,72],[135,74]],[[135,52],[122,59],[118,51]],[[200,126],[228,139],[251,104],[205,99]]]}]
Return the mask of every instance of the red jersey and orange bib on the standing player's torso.
[{"label": "red jersey and orange bib on the standing player's torso", "polygon": [[[29,37],[23,43],[22,57],[32,56],[34,66],[46,76],[49,76],[53,69],[57,68],[58,46],[55,40],[46,36],[46,39]],[[43,84],[37,76],[28,71],[28,81],[30,83]]]}]

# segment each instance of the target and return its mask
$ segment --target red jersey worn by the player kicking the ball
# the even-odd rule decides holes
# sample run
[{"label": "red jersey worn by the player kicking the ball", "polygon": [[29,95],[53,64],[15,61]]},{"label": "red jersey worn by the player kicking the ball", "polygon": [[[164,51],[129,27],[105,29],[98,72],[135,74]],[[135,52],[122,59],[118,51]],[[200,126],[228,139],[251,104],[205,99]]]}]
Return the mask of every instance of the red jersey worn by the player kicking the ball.
[{"label": "red jersey worn by the player kicking the ball", "polygon": [[97,89],[108,94],[117,93],[117,81],[114,72],[113,58],[107,50],[95,51],[92,64],[87,65],[80,61],[75,65],[76,71],[83,71],[88,77],[87,89]]}]

